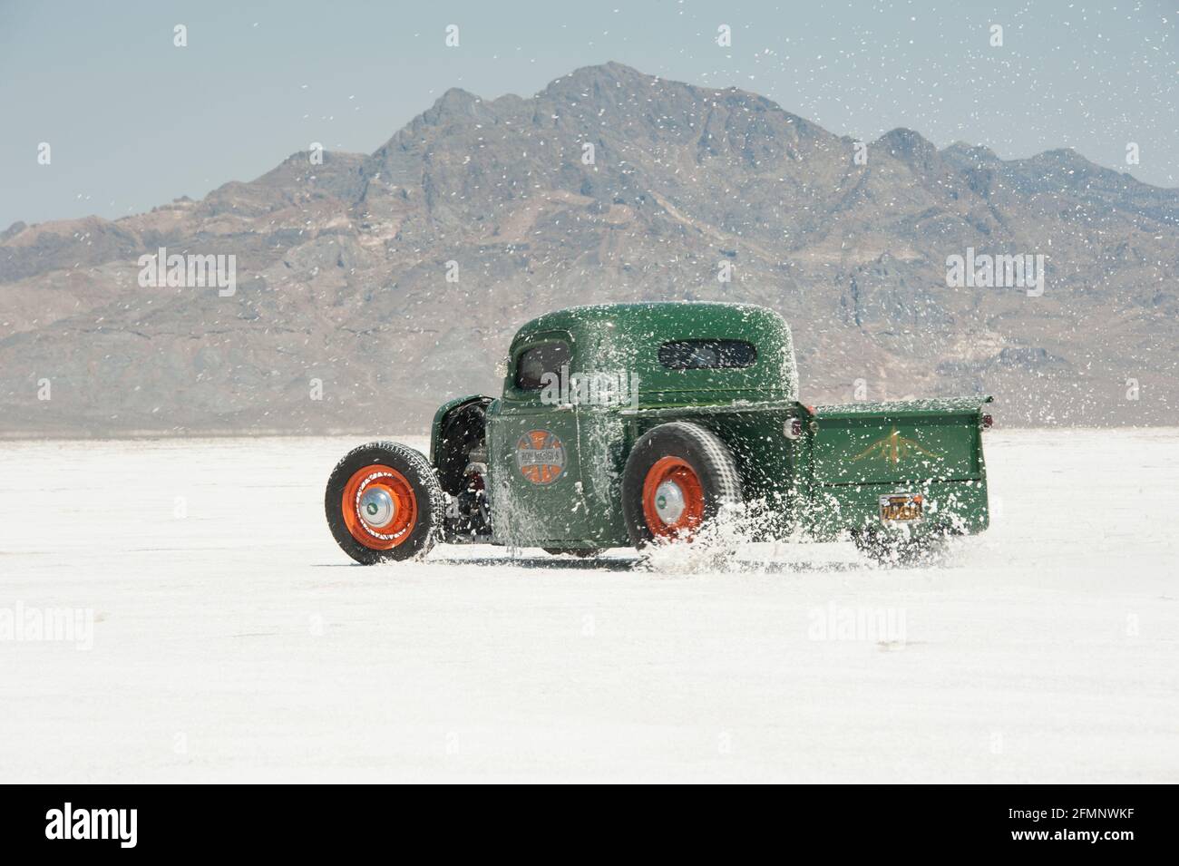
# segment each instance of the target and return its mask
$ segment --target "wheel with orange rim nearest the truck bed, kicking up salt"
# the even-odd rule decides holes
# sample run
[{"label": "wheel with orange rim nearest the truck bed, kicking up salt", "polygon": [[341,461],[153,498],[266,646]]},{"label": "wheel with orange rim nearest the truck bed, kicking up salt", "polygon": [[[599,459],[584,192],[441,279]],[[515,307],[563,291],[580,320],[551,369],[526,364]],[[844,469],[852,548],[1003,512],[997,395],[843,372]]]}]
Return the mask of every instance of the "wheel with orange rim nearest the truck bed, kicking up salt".
[{"label": "wheel with orange rim nearest the truck bed, kicking up salt", "polygon": [[623,516],[631,543],[691,541],[720,509],[743,502],[729,448],[699,424],[674,421],[644,434],[623,472]]}]

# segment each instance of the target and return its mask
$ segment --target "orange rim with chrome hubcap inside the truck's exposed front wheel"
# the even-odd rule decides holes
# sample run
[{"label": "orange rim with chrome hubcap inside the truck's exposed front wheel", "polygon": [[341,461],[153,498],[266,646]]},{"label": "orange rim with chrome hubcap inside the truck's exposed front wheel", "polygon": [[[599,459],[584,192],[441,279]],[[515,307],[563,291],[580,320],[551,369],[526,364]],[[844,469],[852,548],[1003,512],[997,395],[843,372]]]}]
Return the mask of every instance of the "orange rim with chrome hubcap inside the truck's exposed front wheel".
[{"label": "orange rim with chrome hubcap inside the truck's exposed front wheel", "polygon": [[353,472],[340,501],[344,524],[373,550],[391,550],[417,524],[417,496],[406,476],[380,463]]}]

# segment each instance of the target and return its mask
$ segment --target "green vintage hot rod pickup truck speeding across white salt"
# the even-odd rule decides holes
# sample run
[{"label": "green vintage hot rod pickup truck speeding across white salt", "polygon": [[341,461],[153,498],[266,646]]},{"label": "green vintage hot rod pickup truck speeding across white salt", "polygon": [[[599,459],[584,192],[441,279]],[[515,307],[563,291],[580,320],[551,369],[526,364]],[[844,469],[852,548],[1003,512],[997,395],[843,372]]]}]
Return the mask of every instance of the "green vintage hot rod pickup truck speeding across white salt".
[{"label": "green vintage hot rod pickup truck speeding across white salt", "polygon": [[430,455],[348,454],[328,524],[361,563],[436,541],[592,555],[691,542],[726,515],[752,541],[851,537],[882,560],[987,528],[990,397],[811,408],[790,329],[737,304],[581,306],[520,329],[499,397],[437,410]]}]

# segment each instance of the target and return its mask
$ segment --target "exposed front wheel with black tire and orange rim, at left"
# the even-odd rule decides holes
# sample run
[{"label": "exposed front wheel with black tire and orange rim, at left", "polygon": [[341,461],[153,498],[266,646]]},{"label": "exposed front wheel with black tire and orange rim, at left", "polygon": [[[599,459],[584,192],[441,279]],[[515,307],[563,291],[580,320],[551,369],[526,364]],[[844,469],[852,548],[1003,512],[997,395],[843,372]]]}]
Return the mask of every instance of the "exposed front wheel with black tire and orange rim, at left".
[{"label": "exposed front wheel with black tire and orange rim, at left", "polygon": [[446,518],[446,498],[429,461],[396,442],[353,449],[328,477],[328,527],[362,566],[424,556]]}]

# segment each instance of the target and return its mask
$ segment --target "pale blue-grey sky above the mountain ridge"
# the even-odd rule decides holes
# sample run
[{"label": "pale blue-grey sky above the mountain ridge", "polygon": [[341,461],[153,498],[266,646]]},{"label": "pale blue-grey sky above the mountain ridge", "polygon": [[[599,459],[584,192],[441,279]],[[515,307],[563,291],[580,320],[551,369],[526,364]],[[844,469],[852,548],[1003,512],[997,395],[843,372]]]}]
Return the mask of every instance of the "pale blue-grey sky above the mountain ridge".
[{"label": "pale blue-grey sky above the mountain ridge", "polygon": [[839,134],[1071,146],[1179,186],[1177,21],[1179,0],[0,0],[0,229],[198,198],[311,141],[371,152],[449,87],[528,95],[607,60],[737,85]]}]

